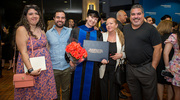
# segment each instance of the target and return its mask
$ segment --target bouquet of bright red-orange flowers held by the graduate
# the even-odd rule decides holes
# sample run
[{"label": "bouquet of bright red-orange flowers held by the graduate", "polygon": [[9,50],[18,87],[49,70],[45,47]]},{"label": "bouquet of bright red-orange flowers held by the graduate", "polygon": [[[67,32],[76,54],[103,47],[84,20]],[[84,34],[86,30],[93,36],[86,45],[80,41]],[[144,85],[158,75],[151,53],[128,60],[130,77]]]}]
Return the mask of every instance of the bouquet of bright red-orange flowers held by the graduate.
[{"label": "bouquet of bright red-orange flowers held by the graduate", "polygon": [[88,56],[87,51],[77,42],[68,44],[65,51],[69,59],[75,64],[81,63]]}]

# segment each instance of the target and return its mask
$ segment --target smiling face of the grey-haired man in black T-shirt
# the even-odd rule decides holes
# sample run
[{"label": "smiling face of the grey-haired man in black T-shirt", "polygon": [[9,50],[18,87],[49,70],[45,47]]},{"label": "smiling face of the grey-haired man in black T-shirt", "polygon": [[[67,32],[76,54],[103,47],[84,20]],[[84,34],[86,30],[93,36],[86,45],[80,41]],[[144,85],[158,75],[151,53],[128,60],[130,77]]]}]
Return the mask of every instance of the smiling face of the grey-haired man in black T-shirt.
[{"label": "smiling face of the grey-haired man in black T-shirt", "polygon": [[134,8],[131,10],[130,20],[134,29],[139,28],[144,22],[144,13],[140,8]]}]

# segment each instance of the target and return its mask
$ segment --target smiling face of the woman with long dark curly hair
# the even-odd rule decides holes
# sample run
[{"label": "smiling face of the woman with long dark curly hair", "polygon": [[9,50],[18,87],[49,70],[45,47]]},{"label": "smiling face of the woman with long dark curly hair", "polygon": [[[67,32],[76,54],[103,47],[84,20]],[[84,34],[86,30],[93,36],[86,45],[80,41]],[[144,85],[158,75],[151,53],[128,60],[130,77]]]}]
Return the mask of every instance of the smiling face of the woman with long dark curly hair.
[{"label": "smiling face of the woman with long dark curly hair", "polygon": [[36,26],[39,22],[40,16],[35,9],[29,9],[26,16],[30,25]]}]

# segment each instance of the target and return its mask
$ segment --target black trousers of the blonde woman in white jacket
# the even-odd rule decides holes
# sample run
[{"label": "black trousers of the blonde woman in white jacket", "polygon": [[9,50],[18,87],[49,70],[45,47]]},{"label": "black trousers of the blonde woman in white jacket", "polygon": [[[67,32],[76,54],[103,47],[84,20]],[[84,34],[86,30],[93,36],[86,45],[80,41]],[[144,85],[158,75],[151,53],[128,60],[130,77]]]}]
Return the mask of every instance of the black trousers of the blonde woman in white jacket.
[{"label": "black trousers of the blonde woman in white jacket", "polygon": [[104,77],[100,79],[101,100],[119,100],[119,86],[115,83],[115,66],[106,66]]}]

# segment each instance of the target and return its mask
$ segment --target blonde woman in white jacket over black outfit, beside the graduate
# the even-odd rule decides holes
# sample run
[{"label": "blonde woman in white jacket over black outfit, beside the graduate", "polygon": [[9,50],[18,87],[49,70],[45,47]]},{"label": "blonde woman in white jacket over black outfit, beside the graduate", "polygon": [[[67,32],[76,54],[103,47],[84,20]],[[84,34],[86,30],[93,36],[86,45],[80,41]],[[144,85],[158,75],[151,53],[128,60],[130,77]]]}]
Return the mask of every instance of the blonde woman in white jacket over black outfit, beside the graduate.
[{"label": "blonde woman in white jacket over black outfit, beside the graduate", "polygon": [[103,41],[109,42],[109,61],[103,59],[100,66],[100,87],[102,100],[119,100],[119,86],[115,84],[115,70],[120,59],[125,58],[124,35],[118,28],[115,18],[108,18],[107,32],[103,33]]}]

